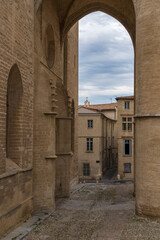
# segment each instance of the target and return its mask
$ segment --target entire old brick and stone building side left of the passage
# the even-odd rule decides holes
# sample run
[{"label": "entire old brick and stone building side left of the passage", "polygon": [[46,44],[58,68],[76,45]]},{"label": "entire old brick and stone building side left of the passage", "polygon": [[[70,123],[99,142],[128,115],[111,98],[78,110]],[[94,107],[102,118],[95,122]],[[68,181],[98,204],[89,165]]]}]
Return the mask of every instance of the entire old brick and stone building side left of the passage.
[{"label": "entire old brick and stone building side left of the passage", "polygon": [[0,1],[0,236],[78,182],[78,24],[36,4]]}]

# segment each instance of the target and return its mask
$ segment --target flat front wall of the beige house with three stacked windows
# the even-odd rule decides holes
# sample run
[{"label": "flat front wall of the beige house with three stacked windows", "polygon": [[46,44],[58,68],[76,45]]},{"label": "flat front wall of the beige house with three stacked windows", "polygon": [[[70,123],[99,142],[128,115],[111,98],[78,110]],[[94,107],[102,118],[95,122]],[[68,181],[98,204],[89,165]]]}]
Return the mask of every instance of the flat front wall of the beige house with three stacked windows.
[{"label": "flat front wall of the beige house with three stacked windows", "polygon": [[[93,128],[87,127],[87,121],[93,120]],[[106,122],[105,122],[106,124]],[[102,177],[102,140],[106,140],[106,132],[102,132],[103,120],[101,114],[79,114],[78,119],[78,166],[79,178],[99,179]],[[103,138],[104,137],[104,138]],[[86,139],[93,138],[93,151],[87,151]],[[98,161],[98,163],[97,163]],[[90,176],[83,176],[83,164],[90,164]]]}]

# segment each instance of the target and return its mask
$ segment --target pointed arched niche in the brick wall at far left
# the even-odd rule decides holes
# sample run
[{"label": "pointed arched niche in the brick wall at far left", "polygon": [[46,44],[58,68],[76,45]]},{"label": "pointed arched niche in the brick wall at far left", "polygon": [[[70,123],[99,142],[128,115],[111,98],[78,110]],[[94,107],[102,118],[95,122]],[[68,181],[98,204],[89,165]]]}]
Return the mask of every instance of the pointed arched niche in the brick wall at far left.
[{"label": "pointed arched niche in the brick wall at far left", "polygon": [[23,85],[17,64],[10,70],[7,84],[6,157],[22,165]]}]

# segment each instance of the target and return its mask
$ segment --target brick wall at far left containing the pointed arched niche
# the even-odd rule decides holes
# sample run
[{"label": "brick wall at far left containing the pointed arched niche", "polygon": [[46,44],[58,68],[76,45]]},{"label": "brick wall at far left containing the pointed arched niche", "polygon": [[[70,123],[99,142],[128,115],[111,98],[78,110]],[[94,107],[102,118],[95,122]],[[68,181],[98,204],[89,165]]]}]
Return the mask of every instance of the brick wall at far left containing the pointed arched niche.
[{"label": "brick wall at far left containing the pointed arched niche", "polygon": [[[0,1],[0,236],[32,212],[33,8],[32,0]],[[14,93],[12,89],[9,91],[8,81],[13,66],[19,72],[19,76],[13,74],[10,79],[11,85],[15,84]],[[17,93],[23,99],[21,118],[10,114],[8,121],[7,97],[10,94],[12,102],[17,101]],[[8,134],[7,126],[12,127]],[[10,144],[10,159],[6,158],[7,144]]]}]

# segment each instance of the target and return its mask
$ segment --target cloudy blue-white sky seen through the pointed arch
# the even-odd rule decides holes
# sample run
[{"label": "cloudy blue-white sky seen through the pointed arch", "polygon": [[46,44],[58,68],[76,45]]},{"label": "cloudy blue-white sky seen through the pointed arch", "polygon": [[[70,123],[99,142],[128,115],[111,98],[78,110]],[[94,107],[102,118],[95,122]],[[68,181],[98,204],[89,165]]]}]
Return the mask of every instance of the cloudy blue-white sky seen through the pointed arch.
[{"label": "cloudy blue-white sky seen through the pointed arch", "polygon": [[[133,95],[134,52],[126,29],[95,12],[79,22],[79,104],[110,103]],[[112,100],[111,100],[112,99]]]}]

